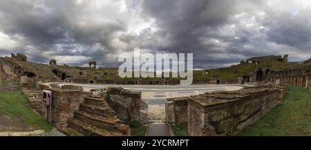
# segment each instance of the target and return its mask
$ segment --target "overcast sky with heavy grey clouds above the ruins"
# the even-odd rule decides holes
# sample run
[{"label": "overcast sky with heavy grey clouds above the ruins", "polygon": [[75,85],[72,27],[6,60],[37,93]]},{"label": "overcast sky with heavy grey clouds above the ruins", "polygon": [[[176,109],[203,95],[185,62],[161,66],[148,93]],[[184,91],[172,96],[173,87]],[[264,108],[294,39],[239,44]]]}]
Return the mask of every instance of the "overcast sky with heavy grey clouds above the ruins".
[{"label": "overcast sky with heavy grey clouds above the ruins", "polygon": [[311,1],[0,0],[0,56],[118,66],[120,53],[194,53],[194,68],[311,57]]}]

